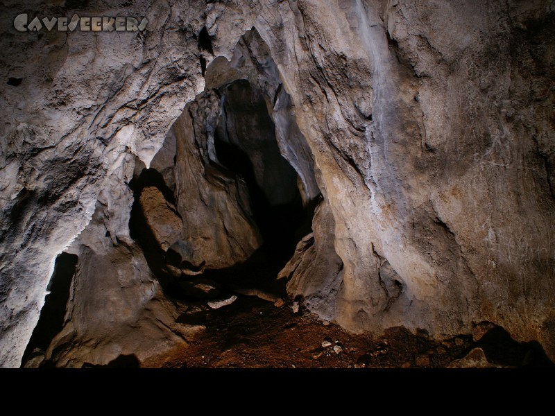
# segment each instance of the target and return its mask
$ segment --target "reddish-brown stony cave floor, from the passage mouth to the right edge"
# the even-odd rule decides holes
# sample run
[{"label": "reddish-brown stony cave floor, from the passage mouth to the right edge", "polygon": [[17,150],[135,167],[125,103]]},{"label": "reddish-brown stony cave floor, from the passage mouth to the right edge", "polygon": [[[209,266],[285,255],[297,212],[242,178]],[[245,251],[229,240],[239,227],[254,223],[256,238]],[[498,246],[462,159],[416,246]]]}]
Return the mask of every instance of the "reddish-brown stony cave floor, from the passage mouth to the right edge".
[{"label": "reddish-brown stony cave floor, from the passage mouth to the right edge", "polygon": [[[323,322],[293,302],[275,306],[237,288],[259,288],[287,299],[285,281],[275,279],[282,264],[264,252],[229,270],[206,272],[237,300],[220,309],[197,308],[177,322],[205,329],[187,340],[187,347],[142,363],[163,368],[445,368],[554,367],[534,343],[518,343],[500,327],[481,336],[454,336],[437,341],[425,331],[397,327],[383,336],[352,334],[333,322]],[[232,284],[230,282],[233,282]],[[196,302],[197,306],[205,302]],[[193,304],[189,304],[191,306]],[[189,309],[193,311],[195,308]],[[481,348],[476,355],[475,348]],[[469,354],[470,353],[470,354]],[[481,355],[480,355],[481,354]],[[458,362],[457,362],[458,361]]]}]

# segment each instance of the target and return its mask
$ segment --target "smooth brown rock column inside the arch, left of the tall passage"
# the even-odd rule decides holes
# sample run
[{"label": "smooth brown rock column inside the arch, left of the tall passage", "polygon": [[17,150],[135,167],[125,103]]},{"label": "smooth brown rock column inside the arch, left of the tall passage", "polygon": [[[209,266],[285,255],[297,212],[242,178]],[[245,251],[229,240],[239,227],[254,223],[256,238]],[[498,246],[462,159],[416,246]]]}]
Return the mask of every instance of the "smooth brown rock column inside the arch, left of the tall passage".
[{"label": "smooth brown rock column inside the arch, left of the tall passage", "polygon": [[[216,123],[218,111],[216,95],[207,94],[172,127],[178,139],[176,207],[183,218],[182,239],[172,249],[182,260],[194,265],[204,261],[210,268],[244,261],[262,243],[253,220],[242,214],[244,209],[250,211],[248,198],[241,198],[246,185],[210,163],[210,138],[203,127],[210,123],[209,117]],[[190,114],[196,116],[194,123]]]}]

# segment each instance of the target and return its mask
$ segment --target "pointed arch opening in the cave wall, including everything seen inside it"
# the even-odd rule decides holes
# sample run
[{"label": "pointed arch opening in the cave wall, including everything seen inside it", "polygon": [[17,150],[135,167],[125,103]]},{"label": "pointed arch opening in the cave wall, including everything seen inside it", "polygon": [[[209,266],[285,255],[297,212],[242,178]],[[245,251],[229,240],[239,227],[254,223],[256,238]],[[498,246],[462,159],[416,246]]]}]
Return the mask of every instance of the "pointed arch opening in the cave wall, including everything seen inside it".
[{"label": "pointed arch opening in the cave wall, including everything seen inside it", "polygon": [[[272,281],[311,232],[321,193],[291,97],[267,56],[264,65],[241,58],[264,46],[252,31],[232,60],[214,58],[205,91],[187,103],[151,168],[138,162],[131,234],[164,291],[175,297],[189,300],[189,286],[207,279],[222,286],[284,286]],[[245,68],[248,62],[252,67]],[[145,192],[157,193],[176,218],[156,225]]]}]

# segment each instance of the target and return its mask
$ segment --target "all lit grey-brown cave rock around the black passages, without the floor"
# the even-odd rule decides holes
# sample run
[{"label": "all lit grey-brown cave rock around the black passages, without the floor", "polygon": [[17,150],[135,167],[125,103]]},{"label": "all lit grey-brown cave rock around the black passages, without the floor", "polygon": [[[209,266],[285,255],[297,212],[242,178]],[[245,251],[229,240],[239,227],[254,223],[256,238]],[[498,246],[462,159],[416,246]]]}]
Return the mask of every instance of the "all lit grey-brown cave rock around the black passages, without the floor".
[{"label": "all lit grey-brown cave rock around the black passages, without the floor", "polygon": [[[36,15],[59,13],[39,3]],[[21,33],[13,19],[24,10],[8,6],[0,364],[21,364],[63,251],[78,261],[47,356],[79,366],[133,352],[146,362],[186,346],[195,329],[176,324],[178,306],[152,270],[171,281],[180,268],[225,267],[262,243],[248,192],[218,154],[225,143],[252,148],[223,134],[245,128],[234,100],[248,94],[266,106],[264,132],[282,157],[275,148],[247,155],[259,186],[276,201],[297,190],[303,206],[318,203],[314,235],[281,274],[291,296],[355,332],[403,325],[441,338],[495,322],[554,358],[550,4],[237,0],[106,10],[88,1],[63,13],[144,16],[137,33]],[[242,95],[225,93],[228,85],[243,85]],[[151,202],[177,213],[153,250],[173,250],[178,263],[157,266],[130,231],[146,168],[159,175],[144,187],[159,191]],[[271,172],[289,179],[276,185]]]}]

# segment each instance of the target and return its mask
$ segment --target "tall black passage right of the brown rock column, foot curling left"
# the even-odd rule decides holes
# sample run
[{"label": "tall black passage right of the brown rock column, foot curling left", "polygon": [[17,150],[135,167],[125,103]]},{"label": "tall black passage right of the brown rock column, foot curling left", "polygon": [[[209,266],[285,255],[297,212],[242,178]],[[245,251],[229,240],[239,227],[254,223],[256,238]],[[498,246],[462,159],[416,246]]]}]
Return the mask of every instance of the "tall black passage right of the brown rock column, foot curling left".
[{"label": "tall black passage right of the brown rock column, foot curling left", "polygon": [[248,80],[239,79],[220,87],[218,94],[221,114],[214,131],[216,164],[246,183],[262,245],[247,261],[209,269],[205,275],[228,286],[257,287],[285,297],[286,281],[276,277],[300,239],[311,232],[320,198],[303,204],[300,177],[280,151],[262,92]]}]

